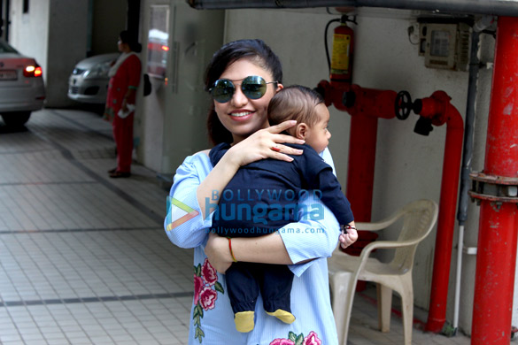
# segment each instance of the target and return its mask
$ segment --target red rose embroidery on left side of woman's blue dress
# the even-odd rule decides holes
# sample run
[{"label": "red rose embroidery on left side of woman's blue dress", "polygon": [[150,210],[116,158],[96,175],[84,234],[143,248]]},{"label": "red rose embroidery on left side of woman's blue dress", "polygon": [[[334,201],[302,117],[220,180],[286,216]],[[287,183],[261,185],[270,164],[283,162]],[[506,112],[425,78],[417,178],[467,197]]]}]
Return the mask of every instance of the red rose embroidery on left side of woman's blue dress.
[{"label": "red rose embroidery on left side of woman's blue dress", "polygon": [[204,317],[204,311],[213,309],[218,299],[218,291],[221,294],[225,290],[218,281],[218,273],[209,260],[205,258],[204,265],[198,264],[194,266],[194,326],[196,331],[194,338],[202,342],[205,337],[204,331],[201,329],[201,318]]}]

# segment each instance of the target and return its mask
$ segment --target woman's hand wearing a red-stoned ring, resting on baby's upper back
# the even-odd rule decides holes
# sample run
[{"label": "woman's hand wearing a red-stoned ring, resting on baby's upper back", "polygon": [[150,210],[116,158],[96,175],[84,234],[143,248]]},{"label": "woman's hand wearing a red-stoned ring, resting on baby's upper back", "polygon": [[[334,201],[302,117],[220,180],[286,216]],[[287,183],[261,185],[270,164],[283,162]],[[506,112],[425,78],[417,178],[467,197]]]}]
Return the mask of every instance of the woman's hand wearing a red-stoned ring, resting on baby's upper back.
[{"label": "woman's hand wearing a red-stoned ring, resting on baby's upper back", "polygon": [[288,155],[302,155],[302,149],[293,149],[289,146],[282,145],[282,143],[303,144],[304,141],[291,135],[280,133],[295,125],[297,125],[297,121],[288,120],[279,125],[261,129],[228,149],[228,154],[224,157],[228,156],[228,158],[231,159],[231,163],[238,167],[264,158],[274,158],[291,162],[293,158]]}]

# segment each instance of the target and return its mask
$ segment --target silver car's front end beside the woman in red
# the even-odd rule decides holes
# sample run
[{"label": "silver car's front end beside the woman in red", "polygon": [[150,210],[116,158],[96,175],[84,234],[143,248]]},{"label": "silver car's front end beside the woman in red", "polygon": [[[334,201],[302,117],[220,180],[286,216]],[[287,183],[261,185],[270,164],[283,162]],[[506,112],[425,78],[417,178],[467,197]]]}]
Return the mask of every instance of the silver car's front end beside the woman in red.
[{"label": "silver car's front end beside the woman in red", "polygon": [[68,79],[68,98],[81,103],[105,103],[108,72],[120,53],[101,54],[81,60]]}]

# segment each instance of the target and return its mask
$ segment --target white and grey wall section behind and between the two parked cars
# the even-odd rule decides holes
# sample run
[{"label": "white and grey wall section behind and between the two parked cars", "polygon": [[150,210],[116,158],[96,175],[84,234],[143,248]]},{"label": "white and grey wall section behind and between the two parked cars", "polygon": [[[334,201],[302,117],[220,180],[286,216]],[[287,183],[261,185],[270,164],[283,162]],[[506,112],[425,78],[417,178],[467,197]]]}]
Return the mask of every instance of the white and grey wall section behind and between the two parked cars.
[{"label": "white and grey wall section behind and between the two parked cars", "polygon": [[85,58],[88,0],[31,1],[28,13],[22,13],[22,3],[12,0],[10,43],[42,66],[46,106],[70,105],[68,77]]}]

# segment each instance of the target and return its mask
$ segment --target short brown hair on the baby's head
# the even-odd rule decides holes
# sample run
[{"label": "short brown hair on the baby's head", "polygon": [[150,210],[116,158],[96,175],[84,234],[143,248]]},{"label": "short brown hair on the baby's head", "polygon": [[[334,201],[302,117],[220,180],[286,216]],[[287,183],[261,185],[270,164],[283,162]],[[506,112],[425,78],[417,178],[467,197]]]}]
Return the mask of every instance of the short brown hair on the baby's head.
[{"label": "short brown hair on the baby's head", "polygon": [[324,103],[322,96],[311,88],[291,85],[282,88],[268,104],[268,122],[270,126],[278,125],[289,119],[314,126],[319,117],[314,108]]}]

